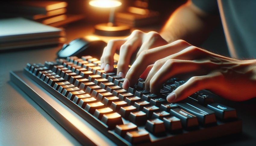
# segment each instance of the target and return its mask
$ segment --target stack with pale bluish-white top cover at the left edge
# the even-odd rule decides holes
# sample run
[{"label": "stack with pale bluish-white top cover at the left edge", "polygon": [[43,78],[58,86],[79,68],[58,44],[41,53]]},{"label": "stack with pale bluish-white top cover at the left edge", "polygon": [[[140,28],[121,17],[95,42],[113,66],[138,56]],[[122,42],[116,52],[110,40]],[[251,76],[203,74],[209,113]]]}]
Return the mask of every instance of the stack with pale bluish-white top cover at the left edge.
[{"label": "stack with pale bluish-white top cover at the left edge", "polygon": [[22,17],[0,19],[0,52],[65,42],[65,32]]}]

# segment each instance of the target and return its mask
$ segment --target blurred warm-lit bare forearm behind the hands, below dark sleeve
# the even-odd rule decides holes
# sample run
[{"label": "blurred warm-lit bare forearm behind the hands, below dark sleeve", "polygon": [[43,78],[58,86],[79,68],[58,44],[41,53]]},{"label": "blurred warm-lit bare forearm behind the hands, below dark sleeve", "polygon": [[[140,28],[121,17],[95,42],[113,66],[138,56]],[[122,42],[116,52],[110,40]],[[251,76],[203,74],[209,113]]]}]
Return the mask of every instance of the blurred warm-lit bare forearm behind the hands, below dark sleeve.
[{"label": "blurred warm-lit bare forearm behind the hands, below dark sleeve", "polygon": [[218,16],[208,15],[188,1],[170,16],[160,35],[169,43],[183,39],[192,45],[198,45],[219,22]]}]

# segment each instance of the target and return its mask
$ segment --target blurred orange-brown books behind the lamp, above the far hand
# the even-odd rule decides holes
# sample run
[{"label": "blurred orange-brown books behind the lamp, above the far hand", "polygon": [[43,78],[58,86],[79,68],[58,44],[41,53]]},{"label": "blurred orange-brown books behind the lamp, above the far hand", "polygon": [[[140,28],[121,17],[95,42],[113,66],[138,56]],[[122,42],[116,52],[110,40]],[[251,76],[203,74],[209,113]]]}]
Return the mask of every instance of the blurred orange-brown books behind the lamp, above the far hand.
[{"label": "blurred orange-brown books behind the lamp, above the far hand", "polygon": [[132,27],[145,26],[158,22],[159,12],[146,8],[128,7],[125,12],[117,12],[115,21],[120,25]]}]

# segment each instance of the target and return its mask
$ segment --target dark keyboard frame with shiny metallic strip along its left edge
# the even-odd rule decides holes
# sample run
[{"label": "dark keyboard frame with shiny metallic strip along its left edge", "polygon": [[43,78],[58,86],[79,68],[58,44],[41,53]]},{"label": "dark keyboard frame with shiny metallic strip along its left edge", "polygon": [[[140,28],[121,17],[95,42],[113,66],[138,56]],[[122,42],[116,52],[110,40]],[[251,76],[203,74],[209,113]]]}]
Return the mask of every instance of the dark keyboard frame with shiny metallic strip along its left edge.
[{"label": "dark keyboard frame with shiny metallic strip along its left edge", "polygon": [[[83,110],[78,106],[74,106],[72,101],[66,97],[60,96],[55,89],[43,82],[36,76],[33,76],[26,68],[23,71],[11,71],[10,72],[11,81],[18,85],[27,95],[30,96],[37,104],[39,104],[49,115],[51,115],[64,129],[66,129],[71,135],[73,135],[81,144],[86,145],[131,145],[129,142],[124,140],[119,135],[115,134],[113,130],[107,130],[105,124],[99,124],[99,120],[92,118],[91,114]],[[47,88],[44,89],[43,87]],[[50,92],[48,92],[50,91]],[[56,95],[57,96],[54,96]],[[57,99],[55,97],[60,97],[64,99]],[[64,104],[65,103],[65,104]],[[71,110],[69,107],[74,108],[78,111],[77,113]],[[83,110],[83,112],[79,112]],[[87,113],[88,115],[83,115],[82,113]],[[89,117],[89,120],[85,120]],[[152,137],[151,142],[143,143],[142,145],[155,145],[158,142],[161,144],[166,144],[171,142],[171,144],[188,144],[197,141],[203,141],[206,139],[216,138],[224,135],[230,135],[239,133],[242,131],[242,121],[235,120],[228,123],[223,123],[217,121],[217,126],[202,128],[200,126],[199,130],[194,130],[179,135],[170,136],[168,138],[163,138],[161,140],[155,140],[157,137]],[[233,128],[236,127],[236,128]],[[221,133],[220,133],[221,131]],[[198,137],[202,135],[203,137]],[[186,140],[184,140],[186,139]],[[141,144],[140,144],[141,145]]]}]

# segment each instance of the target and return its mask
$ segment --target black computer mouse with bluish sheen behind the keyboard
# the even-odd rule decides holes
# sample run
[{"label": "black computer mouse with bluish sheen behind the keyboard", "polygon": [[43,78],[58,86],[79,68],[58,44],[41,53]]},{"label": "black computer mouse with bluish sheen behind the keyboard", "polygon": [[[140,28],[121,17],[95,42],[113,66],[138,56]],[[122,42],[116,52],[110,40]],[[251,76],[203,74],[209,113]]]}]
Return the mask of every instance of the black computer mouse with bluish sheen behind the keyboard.
[{"label": "black computer mouse with bluish sheen behind the keyboard", "polygon": [[57,52],[58,58],[66,58],[69,56],[82,57],[86,55],[100,59],[103,49],[107,43],[94,36],[77,38],[68,44],[64,44],[61,50]]}]

